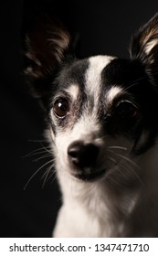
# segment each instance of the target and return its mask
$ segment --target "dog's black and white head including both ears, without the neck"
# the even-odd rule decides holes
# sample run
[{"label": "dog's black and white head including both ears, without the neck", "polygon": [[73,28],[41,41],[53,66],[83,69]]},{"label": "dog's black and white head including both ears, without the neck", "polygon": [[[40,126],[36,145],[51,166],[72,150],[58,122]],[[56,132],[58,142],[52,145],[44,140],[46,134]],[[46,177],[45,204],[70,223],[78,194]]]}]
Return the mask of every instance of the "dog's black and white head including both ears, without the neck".
[{"label": "dog's black and white head including both ears, without the neck", "polygon": [[26,36],[25,72],[47,112],[57,168],[81,180],[134,178],[157,137],[158,15],[132,37],[130,59],[76,59],[70,45],[47,19]]}]

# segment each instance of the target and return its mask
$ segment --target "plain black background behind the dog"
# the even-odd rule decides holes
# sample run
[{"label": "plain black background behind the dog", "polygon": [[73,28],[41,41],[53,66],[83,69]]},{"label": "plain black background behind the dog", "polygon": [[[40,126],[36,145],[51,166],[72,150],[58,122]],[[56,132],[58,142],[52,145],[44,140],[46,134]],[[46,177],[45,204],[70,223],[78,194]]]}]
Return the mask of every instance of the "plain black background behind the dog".
[{"label": "plain black background behind the dog", "polygon": [[[55,177],[43,187],[47,162],[26,157],[42,147],[43,112],[22,75],[22,35],[28,17],[42,10],[59,17],[79,35],[82,57],[96,54],[128,57],[132,33],[158,11],[154,1],[0,1],[0,237],[50,237],[60,195]],[[33,142],[34,141],[34,142]]]}]

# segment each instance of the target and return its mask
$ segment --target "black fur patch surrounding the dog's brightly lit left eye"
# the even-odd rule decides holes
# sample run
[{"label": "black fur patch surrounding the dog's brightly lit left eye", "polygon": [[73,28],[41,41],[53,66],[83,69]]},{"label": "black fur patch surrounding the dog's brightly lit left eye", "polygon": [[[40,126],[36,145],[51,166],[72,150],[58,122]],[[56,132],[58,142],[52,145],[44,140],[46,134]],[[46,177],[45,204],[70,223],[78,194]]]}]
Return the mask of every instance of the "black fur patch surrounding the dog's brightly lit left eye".
[{"label": "black fur patch surrounding the dog's brightly lit left eye", "polygon": [[[88,68],[88,59],[76,61],[73,59],[72,62],[65,63],[62,66],[62,69],[58,72],[56,79],[52,82],[50,90],[47,91],[47,95],[42,99],[49,117],[55,99],[61,97],[62,99],[67,99],[69,102],[71,114],[66,115],[66,117],[62,119],[57,118],[57,127],[56,125],[53,125],[54,133],[56,133],[55,130],[58,129],[58,126],[64,129],[65,127],[68,127],[68,125],[73,125],[79,118],[83,101],[86,101],[84,87],[85,74]],[[68,92],[66,91],[68,87],[73,84],[79,86],[79,99],[75,102],[71,99],[71,95],[68,95]],[[51,118],[49,120],[52,122]]]}]

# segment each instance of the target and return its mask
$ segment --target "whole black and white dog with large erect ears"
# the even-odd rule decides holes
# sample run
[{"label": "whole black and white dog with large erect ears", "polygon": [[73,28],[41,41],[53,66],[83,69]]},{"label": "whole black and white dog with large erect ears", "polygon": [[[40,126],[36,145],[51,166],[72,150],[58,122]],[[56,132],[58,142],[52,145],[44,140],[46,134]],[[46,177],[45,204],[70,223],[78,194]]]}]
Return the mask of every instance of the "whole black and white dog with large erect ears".
[{"label": "whole black and white dog with large erect ears", "polygon": [[53,237],[158,236],[158,14],[129,59],[77,59],[58,21],[26,33],[26,80],[46,112],[62,206]]}]

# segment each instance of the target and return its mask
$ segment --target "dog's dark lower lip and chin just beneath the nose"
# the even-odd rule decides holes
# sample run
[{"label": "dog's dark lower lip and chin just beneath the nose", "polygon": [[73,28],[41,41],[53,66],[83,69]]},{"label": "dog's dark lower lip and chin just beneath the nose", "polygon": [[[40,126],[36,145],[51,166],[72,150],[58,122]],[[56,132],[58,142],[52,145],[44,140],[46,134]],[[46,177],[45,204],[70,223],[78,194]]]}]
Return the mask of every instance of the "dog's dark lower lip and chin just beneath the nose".
[{"label": "dog's dark lower lip and chin just beneath the nose", "polygon": [[74,172],[72,176],[75,176],[77,179],[82,181],[95,181],[100,179],[102,176],[104,176],[106,173],[106,169],[103,170],[81,170],[79,172]]}]

